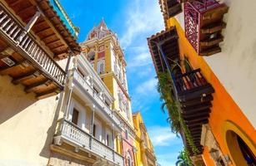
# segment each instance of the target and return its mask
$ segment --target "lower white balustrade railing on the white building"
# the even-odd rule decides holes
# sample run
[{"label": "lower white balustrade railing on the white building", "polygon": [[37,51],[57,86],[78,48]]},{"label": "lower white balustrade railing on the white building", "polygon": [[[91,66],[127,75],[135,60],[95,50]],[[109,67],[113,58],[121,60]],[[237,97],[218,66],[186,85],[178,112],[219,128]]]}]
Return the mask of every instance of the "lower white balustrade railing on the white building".
[{"label": "lower white balustrade railing on the white building", "polygon": [[67,139],[68,142],[72,142],[73,144],[78,144],[81,146],[81,149],[89,150],[116,165],[123,166],[123,157],[116,153],[114,149],[111,149],[106,144],[95,139],[91,134],[88,134],[68,120],[61,119],[58,123],[59,128],[57,136],[61,136],[63,139]]}]

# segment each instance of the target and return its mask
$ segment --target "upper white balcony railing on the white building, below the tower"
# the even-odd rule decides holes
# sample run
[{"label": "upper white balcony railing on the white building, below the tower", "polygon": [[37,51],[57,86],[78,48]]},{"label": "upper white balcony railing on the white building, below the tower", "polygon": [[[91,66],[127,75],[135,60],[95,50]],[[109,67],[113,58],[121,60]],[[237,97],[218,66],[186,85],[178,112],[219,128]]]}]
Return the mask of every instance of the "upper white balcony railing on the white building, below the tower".
[{"label": "upper white balcony railing on the white building, below the tower", "polygon": [[80,85],[83,86],[85,90],[88,91],[89,95],[93,97],[96,103],[101,106],[101,108],[110,116],[110,118],[116,123],[116,125],[120,126],[121,121],[118,119],[117,115],[113,114],[113,110],[111,110],[108,105],[103,101],[103,99],[98,95],[98,93],[93,90],[93,87],[88,84],[85,78],[81,76],[78,71],[73,70],[73,78],[78,81]]}]

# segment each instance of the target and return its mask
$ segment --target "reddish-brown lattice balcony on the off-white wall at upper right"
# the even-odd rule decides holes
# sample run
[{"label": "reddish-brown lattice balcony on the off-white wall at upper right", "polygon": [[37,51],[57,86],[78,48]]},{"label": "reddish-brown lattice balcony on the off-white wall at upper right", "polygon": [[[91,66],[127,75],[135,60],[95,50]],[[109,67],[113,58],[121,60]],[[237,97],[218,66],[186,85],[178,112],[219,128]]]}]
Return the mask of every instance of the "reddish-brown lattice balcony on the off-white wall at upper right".
[{"label": "reddish-brown lattice balcony on the off-white wall at upper right", "polygon": [[219,43],[226,24],[223,15],[228,12],[224,3],[216,0],[187,1],[184,4],[185,34],[200,56],[211,56],[221,51]]}]

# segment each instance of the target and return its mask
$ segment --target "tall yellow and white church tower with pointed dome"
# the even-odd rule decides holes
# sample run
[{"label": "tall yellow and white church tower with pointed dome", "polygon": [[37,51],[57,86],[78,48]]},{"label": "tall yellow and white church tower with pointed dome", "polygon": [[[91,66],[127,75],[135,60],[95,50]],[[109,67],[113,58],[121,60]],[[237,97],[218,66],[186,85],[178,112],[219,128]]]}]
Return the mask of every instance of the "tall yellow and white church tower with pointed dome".
[{"label": "tall yellow and white church tower with pointed dome", "polygon": [[93,27],[86,41],[83,41],[80,46],[94,70],[107,85],[113,98],[116,99],[112,109],[122,122],[122,141],[117,141],[116,144],[119,145],[118,152],[123,154],[125,165],[131,166],[134,164],[135,133],[128,95],[126,61],[117,35],[109,30],[102,20],[97,27]]}]

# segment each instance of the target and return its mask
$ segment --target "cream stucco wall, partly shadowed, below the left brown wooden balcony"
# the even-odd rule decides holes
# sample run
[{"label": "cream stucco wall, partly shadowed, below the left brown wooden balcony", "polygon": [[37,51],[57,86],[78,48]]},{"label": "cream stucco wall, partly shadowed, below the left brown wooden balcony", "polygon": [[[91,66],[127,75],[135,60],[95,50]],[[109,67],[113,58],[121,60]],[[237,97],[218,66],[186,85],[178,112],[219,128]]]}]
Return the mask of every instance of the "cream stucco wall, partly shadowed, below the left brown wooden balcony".
[{"label": "cream stucco wall, partly shadowed, below the left brown wooden balcony", "polygon": [[9,76],[0,76],[0,165],[38,166],[48,164],[58,118],[56,95],[36,100],[23,85],[13,85]]}]

